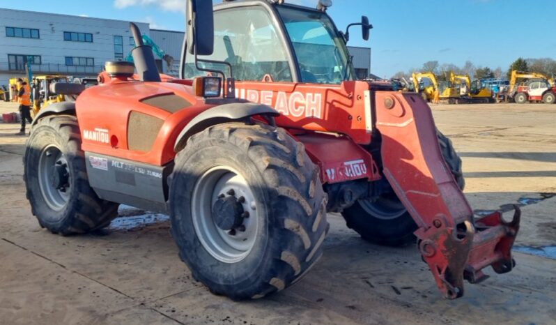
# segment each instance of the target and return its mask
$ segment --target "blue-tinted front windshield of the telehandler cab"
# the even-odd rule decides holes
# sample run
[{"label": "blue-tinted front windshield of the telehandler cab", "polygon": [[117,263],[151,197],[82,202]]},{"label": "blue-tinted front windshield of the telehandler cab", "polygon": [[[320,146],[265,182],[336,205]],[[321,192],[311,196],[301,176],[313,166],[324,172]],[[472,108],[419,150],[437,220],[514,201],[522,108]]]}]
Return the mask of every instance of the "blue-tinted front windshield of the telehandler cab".
[{"label": "blue-tinted front windshield of the telehandler cab", "polygon": [[325,13],[277,6],[301,70],[302,82],[340,84],[353,80],[346,43]]}]

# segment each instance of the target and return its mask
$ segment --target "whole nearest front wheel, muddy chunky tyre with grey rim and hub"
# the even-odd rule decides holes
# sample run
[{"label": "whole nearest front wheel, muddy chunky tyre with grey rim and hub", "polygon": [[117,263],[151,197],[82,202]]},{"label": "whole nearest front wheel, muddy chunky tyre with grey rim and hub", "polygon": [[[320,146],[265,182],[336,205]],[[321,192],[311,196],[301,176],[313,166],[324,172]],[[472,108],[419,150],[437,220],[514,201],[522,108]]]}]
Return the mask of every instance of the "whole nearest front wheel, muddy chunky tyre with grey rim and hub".
[{"label": "whole nearest front wheel, muddy chunky tyre with grey rim and hub", "polygon": [[278,292],[323,253],[318,167],[280,128],[226,123],[194,135],[176,157],[169,204],[180,257],[215,294]]}]

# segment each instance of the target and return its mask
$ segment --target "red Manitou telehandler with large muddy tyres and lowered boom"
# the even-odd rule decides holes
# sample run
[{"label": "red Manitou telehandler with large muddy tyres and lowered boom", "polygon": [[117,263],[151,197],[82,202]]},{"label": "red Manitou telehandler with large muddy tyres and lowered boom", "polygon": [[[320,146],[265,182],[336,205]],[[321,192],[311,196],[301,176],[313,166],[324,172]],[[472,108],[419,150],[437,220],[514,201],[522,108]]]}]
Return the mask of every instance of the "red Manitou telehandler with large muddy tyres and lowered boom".
[{"label": "red Manitou telehandler with large muddy tyres and lowered boom", "polygon": [[[38,114],[24,179],[55,234],[107,227],[118,204],[167,213],[212,292],[261,298],[323,254],[327,211],[374,243],[415,243],[446,298],[511,271],[520,213],[474,220],[461,160],[416,93],[356,81],[350,27],[284,1],[187,1],[180,79],[132,24],[134,64],[107,63],[76,103]],[[135,73],[137,70],[137,73]]]}]

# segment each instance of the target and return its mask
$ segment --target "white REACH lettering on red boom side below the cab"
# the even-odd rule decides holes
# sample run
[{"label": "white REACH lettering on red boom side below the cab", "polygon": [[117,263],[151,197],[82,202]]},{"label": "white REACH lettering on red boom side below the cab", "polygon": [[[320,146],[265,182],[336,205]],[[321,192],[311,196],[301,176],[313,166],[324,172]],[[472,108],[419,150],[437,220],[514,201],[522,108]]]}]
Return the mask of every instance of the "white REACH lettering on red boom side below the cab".
[{"label": "white REACH lettering on red boom side below the cab", "polygon": [[236,89],[235,92],[238,98],[274,107],[284,116],[323,119],[323,95],[321,93],[301,93],[300,91],[286,93],[285,91],[246,89]]}]

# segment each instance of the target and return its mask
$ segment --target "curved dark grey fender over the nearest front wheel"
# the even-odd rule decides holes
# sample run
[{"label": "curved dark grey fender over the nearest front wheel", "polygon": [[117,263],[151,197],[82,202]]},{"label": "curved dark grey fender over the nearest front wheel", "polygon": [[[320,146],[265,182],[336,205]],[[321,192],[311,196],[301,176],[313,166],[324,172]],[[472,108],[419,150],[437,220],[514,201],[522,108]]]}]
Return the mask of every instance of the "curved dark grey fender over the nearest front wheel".
[{"label": "curved dark grey fender over the nearest front wheel", "polygon": [[207,109],[205,112],[197,115],[183,128],[180,135],[178,135],[178,139],[176,139],[176,144],[173,147],[174,151],[178,152],[183,149],[187,139],[209,126],[229,121],[238,121],[256,115],[276,117],[280,114],[268,105],[255,103],[224,104]]}]

